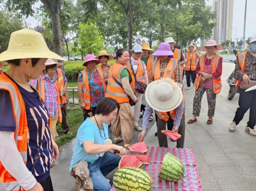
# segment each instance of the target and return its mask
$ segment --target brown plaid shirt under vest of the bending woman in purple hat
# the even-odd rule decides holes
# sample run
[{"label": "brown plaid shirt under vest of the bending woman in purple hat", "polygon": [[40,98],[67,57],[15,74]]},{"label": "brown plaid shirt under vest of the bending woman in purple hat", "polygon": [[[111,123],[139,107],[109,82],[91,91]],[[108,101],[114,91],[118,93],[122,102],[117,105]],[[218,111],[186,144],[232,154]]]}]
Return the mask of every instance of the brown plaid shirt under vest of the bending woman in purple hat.
[{"label": "brown plaid shirt under vest of the bending woman in purple hat", "polygon": [[[171,60],[171,58],[168,58],[163,63],[161,63],[161,61],[160,61],[160,77],[161,78],[163,78],[163,74],[164,74],[165,69],[166,69],[170,60]],[[175,81],[179,84],[183,84],[180,62],[178,62],[177,66],[176,66],[176,69],[175,69]],[[154,82],[154,76],[153,75],[151,75],[150,79],[149,79],[149,83],[151,83],[151,82]]]}]

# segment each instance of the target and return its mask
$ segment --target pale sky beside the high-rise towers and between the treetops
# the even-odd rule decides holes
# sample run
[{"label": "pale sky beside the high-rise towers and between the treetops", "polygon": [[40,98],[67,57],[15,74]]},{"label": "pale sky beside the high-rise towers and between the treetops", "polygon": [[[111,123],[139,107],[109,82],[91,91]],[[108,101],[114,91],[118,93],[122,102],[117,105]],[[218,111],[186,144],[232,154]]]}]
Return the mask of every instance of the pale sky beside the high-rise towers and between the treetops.
[{"label": "pale sky beside the high-rise towers and between the treetops", "polygon": [[[207,5],[212,5],[213,0],[206,0]],[[35,7],[40,7],[41,2],[37,2]],[[245,25],[245,39],[256,33],[256,0],[247,0],[247,14],[246,14],[246,25]],[[254,16],[253,16],[254,15]],[[234,0],[234,11],[233,11],[233,28],[232,40],[235,41],[236,36],[239,38],[243,37],[243,25],[245,18],[245,0]],[[28,18],[28,22],[32,24],[32,27],[37,25],[37,20],[33,17]]]}]

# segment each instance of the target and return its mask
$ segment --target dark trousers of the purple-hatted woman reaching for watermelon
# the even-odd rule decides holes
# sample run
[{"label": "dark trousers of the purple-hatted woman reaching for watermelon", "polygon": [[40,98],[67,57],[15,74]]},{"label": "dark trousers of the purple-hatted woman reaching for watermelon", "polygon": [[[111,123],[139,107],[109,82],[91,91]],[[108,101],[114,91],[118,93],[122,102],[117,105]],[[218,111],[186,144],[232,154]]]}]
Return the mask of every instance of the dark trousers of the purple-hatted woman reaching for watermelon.
[{"label": "dark trousers of the purple-hatted woman reaching for watermelon", "polygon": [[[167,129],[171,131],[173,129],[174,120],[172,118],[169,118],[169,120],[166,122],[165,120],[162,120],[158,117],[157,134],[158,134],[158,143],[160,147],[168,147],[167,136],[161,132],[162,130],[166,130],[166,123],[167,123]],[[184,140],[185,140],[185,114],[182,116],[180,120],[180,127],[178,129],[178,134],[180,134],[181,137],[177,140],[177,148],[183,148]]]}]

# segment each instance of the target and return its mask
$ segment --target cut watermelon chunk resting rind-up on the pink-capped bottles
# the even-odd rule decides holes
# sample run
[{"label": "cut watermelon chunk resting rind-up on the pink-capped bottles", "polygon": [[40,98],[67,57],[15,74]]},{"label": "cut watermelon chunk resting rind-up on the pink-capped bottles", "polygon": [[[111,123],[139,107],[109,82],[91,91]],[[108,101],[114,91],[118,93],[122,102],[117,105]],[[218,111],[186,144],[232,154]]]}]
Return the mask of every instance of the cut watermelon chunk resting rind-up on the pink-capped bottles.
[{"label": "cut watermelon chunk resting rind-up on the pink-capped bottles", "polygon": [[158,177],[168,182],[178,182],[184,178],[184,172],[185,168],[182,162],[171,153],[166,153]]}]

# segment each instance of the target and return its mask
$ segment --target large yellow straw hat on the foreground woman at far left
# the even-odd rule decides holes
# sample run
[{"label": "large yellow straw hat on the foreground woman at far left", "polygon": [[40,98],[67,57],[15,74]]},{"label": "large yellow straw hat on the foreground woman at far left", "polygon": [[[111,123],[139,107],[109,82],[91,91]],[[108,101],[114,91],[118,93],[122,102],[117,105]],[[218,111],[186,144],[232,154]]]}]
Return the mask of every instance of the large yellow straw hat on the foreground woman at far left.
[{"label": "large yellow straw hat on the foreground woman at far left", "polygon": [[0,54],[0,61],[22,58],[66,60],[50,51],[43,35],[31,29],[21,29],[11,33],[7,50]]}]

